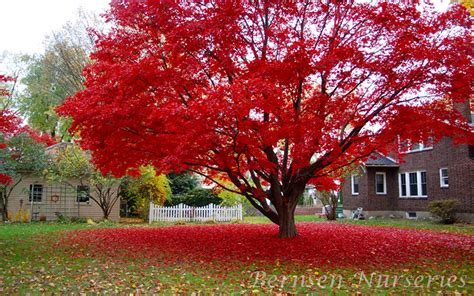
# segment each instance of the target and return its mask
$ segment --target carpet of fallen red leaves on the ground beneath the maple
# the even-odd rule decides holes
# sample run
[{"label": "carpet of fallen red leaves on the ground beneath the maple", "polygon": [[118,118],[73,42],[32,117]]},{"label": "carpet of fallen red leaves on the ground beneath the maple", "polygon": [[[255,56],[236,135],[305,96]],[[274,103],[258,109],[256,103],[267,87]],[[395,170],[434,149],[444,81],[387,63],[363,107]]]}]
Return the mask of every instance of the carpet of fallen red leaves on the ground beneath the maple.
[{"label": "carpet of fallen red leaves on the ground beneath the maple", "polygon": [[285,261],[370,269],[451,260],[462,264],[474,259],[474,238],[470,236],[330,223],[301,223],[298,231],[300,237],[279,239],[273,225],[100,229],[74,232],[58,245],[75,256],[146,257],[229,266]]}]

